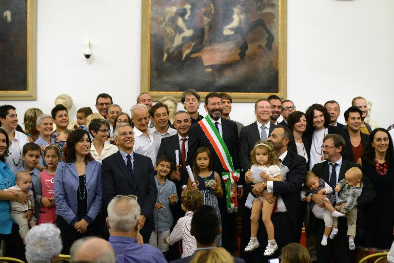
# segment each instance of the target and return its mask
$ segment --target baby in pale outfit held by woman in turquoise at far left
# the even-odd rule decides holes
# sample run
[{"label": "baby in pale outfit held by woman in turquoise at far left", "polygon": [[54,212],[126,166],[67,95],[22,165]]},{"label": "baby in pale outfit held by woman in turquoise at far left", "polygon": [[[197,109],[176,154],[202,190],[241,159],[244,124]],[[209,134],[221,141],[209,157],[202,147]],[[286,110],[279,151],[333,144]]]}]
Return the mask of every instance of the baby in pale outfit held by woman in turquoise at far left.
[{"label": "baby in pale outfit held by woman in turquoise at far left", "polygon": [[[34,216],[34,197],[33,191],[31,190],[32,182],[30,173],[27,171],[18,171],[16,173],[16,185],[11,186],[8,189],[4,189],[4,191],[11,191],[14,194],[16,191],[24,191],[30,194],[30,199],[27,204],[20,204],[16,201],[10,201],[11,205],[11,218],[15,221],[19,226],[19,235],[23,239],[23,244],[25,245],[25,236],[27,232],[29,232],[29,227],[32,228],[36,225],[37,219]],[[27,218],[24,217],[27,211],[32,211],[33,215],[30,218],[30,221],[27,221]]]}]

